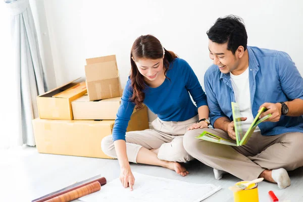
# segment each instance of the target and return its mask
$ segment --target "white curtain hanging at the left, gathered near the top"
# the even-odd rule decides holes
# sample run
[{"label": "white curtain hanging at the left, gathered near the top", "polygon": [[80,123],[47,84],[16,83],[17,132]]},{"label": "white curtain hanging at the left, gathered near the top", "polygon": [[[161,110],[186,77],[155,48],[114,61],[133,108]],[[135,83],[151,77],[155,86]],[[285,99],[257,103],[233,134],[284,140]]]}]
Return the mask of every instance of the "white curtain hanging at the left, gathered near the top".
[{"label": "white curtain hanging at the left, gathered near the top", "polygon": [[9,135],[9,146],[27,144],[35,145],[32,120],[38,117],[36,96],[43,93],[47,87],[39,53],[38,40],[29,0],[5,1],[10,14],[12,36],[12,65],[16,100],[14,132]]}]

